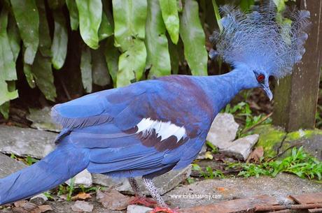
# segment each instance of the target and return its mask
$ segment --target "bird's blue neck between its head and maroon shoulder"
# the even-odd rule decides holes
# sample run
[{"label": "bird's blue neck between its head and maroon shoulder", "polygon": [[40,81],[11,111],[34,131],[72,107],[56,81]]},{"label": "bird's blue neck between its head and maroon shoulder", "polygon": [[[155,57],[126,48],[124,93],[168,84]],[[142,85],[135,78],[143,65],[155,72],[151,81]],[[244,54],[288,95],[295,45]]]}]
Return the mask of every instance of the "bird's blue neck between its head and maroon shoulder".
[{"label": "bird's blue neck between its head and maroon shoulder", "polygon": [[239,70],[230,71],[223,75],[202,76],[198,84],[202,86],[214,107],[215,115],[230,103],[239,91],[252,88],[247,72]]}]

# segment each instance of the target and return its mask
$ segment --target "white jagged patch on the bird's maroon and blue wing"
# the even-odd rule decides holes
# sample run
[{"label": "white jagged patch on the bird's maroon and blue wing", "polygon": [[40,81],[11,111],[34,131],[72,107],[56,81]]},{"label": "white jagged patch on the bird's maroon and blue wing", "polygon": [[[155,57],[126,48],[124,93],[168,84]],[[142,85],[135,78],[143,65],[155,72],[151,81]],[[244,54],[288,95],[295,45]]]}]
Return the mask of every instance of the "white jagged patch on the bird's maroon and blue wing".
[{"label": "white jagged patch on the bird's maroon and blue wing", "polygon": [[172,135],[176,136],[176,142],[179,142],[182,138],[186,138],[186,128],[183,126],[176,126],[176,124],[172,124],[171,122],[160,122],[149,117],[141,119],[141,122],[137,124],[137,128],[137,133],[141,132],[143,135],[149,135],[154,129],[157,137],[161,136],[161,141]]}]

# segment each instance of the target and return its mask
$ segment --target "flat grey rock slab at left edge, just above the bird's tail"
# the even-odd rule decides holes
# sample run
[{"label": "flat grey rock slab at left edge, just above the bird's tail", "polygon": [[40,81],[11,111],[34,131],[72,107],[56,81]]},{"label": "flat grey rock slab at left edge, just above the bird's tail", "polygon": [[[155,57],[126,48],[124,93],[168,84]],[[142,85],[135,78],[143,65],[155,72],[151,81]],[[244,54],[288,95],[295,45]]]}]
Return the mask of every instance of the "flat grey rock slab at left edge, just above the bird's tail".
[{"label": "flat grey rock slab at left edge, just above the bird's tail", "polygon": [[42,159],[55,149],[56,133],[0,125],[0,152]]}]

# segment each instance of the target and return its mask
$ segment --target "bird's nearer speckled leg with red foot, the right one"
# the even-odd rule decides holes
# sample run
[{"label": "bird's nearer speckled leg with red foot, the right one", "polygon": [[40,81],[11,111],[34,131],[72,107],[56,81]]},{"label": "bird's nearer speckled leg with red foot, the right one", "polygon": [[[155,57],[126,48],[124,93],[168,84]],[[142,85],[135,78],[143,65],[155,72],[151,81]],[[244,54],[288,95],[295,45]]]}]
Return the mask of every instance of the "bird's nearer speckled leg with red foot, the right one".
[{"label": "bird's nearer speckled leg with red foot, the right one", "polygon": [[179,213],[176,210],[172,210],[168,207],[168,205],[165,203],[165,201],[160,196],[160,193],[158,193],[158,189],[155,188],[152,179],[148,179],[145,177],[142,177],[144,185],[146,186],[146,189],[150,191],[151,196],[153,199],[157,200],[158,206],[155,207],[150,213],[157,213],[157,212],[166,212],[166,213]]}]

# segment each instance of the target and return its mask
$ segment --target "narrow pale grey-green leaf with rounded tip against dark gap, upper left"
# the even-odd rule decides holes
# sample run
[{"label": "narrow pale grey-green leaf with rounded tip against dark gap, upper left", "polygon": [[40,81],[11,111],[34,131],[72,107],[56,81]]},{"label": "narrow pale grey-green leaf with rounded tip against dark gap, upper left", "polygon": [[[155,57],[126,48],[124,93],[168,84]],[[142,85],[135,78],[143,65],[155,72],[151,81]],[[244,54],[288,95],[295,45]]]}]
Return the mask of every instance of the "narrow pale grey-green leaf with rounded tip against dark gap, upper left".
[{"label": "narrow pale grey-green leaf with rounded tip against dark gap, upper left", "polygon": [[52,40],[52,66],[59,70],[64,65],[67,53],[68,34],[66,22],[61,10],[54,11],[55,31]]}]

